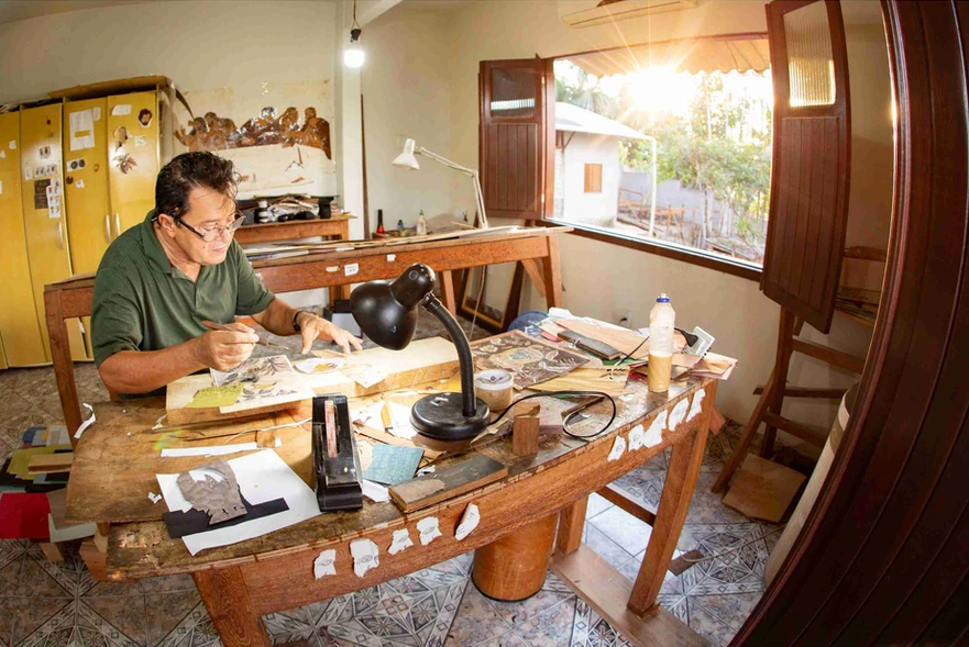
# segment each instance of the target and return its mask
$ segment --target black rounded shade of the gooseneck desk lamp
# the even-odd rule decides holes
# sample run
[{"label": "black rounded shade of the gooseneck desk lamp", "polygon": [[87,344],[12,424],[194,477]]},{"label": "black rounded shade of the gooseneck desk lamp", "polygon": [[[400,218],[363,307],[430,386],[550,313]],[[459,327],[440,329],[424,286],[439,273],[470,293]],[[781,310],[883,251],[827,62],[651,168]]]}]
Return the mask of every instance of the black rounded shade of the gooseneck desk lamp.
[{"label": "black rounded shade of the gooseneck desk lamp", "polygon": [[375,344],[401,350],[417,328],[417,306],[434,288],[434,270],[416,263],[394,281],[368,281],[350,294],[350,311]]}]

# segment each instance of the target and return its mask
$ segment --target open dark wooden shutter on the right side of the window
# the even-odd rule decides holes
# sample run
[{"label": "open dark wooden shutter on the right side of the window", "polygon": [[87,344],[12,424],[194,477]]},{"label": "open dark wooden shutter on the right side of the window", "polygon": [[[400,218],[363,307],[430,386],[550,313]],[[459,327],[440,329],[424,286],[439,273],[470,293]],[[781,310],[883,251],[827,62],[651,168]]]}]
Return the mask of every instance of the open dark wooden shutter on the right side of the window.
[{"label": "open dark wooden shutter on the right side of the window", "polygon": [[773,167],[761,289],[827,333],[848,224],[850,111],[838,2],[767,7]]}]

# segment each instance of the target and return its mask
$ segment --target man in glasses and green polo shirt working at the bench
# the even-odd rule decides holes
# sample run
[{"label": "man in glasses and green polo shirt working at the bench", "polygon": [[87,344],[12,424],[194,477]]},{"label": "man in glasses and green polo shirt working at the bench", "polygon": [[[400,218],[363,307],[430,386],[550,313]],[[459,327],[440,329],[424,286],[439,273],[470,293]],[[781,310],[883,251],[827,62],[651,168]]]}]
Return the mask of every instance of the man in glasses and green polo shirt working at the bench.
[{"label": "man in glasses and green polo shirt working at the bench", "polygon": [[287,305],[255,276],[232,239],[242,224],[234,178],[232,163],[211,153],[175,157],[158,174],[155,209],[104,253],[91,328],[108,389],[148,393],[205,368],[239,366],[258,337],[236,315],[277,335],[299,333],[304,354],[317,338],[360,349],[360,339]]}]

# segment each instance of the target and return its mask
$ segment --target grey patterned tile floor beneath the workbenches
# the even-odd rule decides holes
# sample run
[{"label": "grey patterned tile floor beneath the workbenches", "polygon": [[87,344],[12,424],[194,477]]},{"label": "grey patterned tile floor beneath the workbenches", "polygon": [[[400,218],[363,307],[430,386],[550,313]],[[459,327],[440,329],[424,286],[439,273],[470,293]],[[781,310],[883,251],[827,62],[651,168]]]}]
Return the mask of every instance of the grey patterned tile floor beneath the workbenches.
[{"label": "grey patterned tile floor beneath the workbenches", "polygon": [[[107,399],[91,365],[77,365],[81,400]],[[60,420],[49,368],[0,371],[0,459],[31,425]],[[661,604],[713,645],[726,645],[763,591],[763,569],[778,534],[725,507],[709,492],[739,428],[711,439],[680,539],[723,557],[667,575]],[[656,507],[668,455],[619,479],[618,484]],[[592,497],[586,543],[635,578],[650,527],[604,499]],[[679,553],[678,553],[679,555]],[[472,555],[326,602],[266,616],[277,643],[308,639],[312,647],[381,646],[620,646],[627,643],[554,576],[525,602],[484,598],[470,581]],[[191,579],[174,576],[134,584],[93,581],[82,561],[45,561],[30,542],[0,542],[0,647],[198,647],[218,636]]]}]

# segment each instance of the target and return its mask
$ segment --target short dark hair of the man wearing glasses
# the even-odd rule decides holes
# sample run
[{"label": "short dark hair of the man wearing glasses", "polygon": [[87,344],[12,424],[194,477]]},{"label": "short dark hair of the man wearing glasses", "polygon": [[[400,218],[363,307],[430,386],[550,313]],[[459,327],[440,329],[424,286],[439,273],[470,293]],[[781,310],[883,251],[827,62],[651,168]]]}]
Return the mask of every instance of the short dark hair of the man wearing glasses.
[{"label": "short dark hair of the man wearing glasses", "polygon": [[205,150],[176,155],[162,167],[155,182],[155,217],[164,213],[181,217],[188,211],[188,194],[196,187],[212,189],[235,199],[235,169],[230,159]]}]

